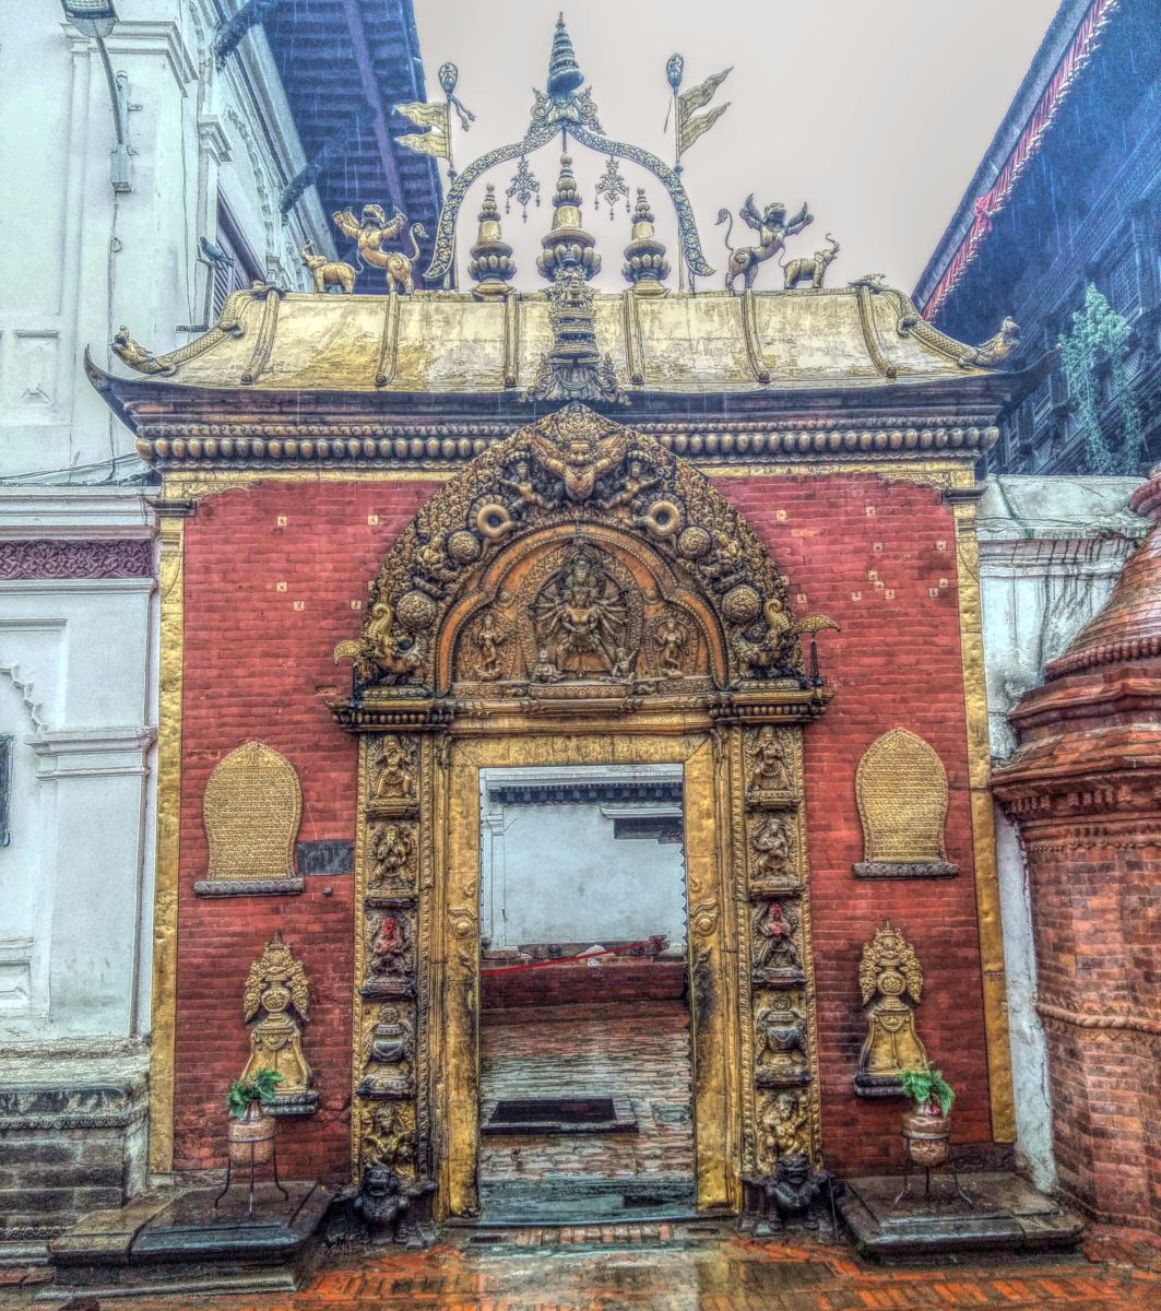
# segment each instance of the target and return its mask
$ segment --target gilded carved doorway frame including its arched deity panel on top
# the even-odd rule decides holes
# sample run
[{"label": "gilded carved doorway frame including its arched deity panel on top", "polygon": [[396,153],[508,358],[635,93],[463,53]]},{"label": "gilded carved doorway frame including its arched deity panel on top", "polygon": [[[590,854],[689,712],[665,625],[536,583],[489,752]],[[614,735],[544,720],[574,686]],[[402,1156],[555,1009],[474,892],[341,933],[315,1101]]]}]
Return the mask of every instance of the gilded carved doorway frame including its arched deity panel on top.
[{"label": "gilded carved doorway frame including its arched deity panel on top", "polygon": [[[594,614],[604,636],[570,645]],[[400,534],[332,703],[360,738],[355,1181],[476,1210],[480,770],[503,766],[683,766],[698,1205],[820,1162],[802,725],[832,694],[798,640],[828,625],[791,617],[696,469],[583,406],[490,447]]]}]

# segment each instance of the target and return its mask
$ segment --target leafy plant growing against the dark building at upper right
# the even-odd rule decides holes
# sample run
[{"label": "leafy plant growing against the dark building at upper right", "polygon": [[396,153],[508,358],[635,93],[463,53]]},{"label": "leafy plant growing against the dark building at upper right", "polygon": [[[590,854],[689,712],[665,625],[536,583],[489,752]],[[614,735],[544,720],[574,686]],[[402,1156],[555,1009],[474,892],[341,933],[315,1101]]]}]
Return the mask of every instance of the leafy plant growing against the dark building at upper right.
[{"label": "leafy plant growing against the dark building at upper right", "polygon": [[[1141,409],[1127,366],[1131,336],[1128,320],[1089,283],[1084,309],[1073,313],[1072,326],[1060,337],[1068,396],[1076,406],[1085,459],[1093,473],[1136,473],[1141,459]],[[1101,372],[1105,368],[1120,420],[1122,435],[1116,447],[1109,444],[1101,427]]]}]

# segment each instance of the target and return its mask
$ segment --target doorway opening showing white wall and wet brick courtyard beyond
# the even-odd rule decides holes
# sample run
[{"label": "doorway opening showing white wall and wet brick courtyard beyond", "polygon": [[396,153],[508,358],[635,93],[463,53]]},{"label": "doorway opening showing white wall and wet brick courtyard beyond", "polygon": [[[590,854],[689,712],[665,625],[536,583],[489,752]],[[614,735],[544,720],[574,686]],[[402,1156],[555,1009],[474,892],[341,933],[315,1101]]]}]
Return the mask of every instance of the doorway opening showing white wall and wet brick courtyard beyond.
[{"label": "doorway opening showing white wall and wet brick courtyard beyond", "polygon": [[480,780],[481,1215],[692,1214],[683,767]]}]

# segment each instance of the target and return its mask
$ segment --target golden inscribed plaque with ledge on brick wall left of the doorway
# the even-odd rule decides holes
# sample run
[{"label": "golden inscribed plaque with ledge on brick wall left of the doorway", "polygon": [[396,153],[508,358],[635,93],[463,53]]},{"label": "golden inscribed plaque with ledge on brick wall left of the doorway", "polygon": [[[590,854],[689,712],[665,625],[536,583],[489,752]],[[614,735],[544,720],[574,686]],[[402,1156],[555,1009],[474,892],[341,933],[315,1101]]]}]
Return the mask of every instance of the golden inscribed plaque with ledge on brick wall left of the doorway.
[{"label": "golden inscribed plaque with ledge on brick wall left of the doorway", "polygon": [[210,877],[202,897],[300,893],[295,840],[303,789],[294,766],[262,742],[246,742],[214,767],[202,798]]}]

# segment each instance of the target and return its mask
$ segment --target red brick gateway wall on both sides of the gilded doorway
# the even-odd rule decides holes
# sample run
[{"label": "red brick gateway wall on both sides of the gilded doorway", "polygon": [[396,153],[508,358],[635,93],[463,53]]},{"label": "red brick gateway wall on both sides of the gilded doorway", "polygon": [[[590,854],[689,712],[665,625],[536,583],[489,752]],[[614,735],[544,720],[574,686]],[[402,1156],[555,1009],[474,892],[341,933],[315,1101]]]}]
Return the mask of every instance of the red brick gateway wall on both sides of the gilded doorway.
[{"label": "red brick gateway wall on both sides of the gilded doorway", "polygon": [[[790,578],[795,608],[843,628],[820,640],[837,696],[806,734],[827,1163],[854,1172],[899,1159],[899,1103],[860,1100],[850,1087],[865,1032],[858,956],[885,916],[924,965],[919,1028],[959,1092],[957,1141],[987,1142],[951,511],[932,489],[873,476],[722,479],[718,486]],[[224,1163],[221,1103],[248,1051],[241,988],[280,927],[313,986],[304,1049],[320,1091],[317,1116],[283,1126],[283,1173],[346,1176],[351,880],[308,878],[301,897],[195,897],[194,880],[206,877],[202,793],[227,751],[258,738],[299,772],[300,840],[354,836],[356,749],[324,704],[350,675],[349,666],[334,667],[332,650],[358,631],[362,612],[351,603],[366,598],[394,535],[434,490],[423,480],[270,481],[212,497],[186,524],[178,1169]],[[926,738],[947,770],[957,878],[867,882],[850,873],[862,856],[854,770],[870,742],[899,724]]]}]

